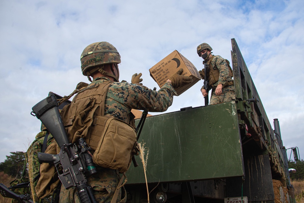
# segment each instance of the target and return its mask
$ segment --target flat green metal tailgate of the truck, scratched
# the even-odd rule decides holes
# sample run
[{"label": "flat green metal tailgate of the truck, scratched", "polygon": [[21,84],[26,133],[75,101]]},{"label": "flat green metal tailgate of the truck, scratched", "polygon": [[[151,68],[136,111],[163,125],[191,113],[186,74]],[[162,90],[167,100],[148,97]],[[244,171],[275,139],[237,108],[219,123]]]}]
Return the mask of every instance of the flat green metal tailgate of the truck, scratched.
[{"label": "flat green metal tailgate of the truck, scratched", "polygon": [[[137,120],[138,121],[138,120]],[[149,149],[149,183],[244,175],[235,102],[147,117],[139,142]],[[145,183],[132,165],[128,184]]]}]

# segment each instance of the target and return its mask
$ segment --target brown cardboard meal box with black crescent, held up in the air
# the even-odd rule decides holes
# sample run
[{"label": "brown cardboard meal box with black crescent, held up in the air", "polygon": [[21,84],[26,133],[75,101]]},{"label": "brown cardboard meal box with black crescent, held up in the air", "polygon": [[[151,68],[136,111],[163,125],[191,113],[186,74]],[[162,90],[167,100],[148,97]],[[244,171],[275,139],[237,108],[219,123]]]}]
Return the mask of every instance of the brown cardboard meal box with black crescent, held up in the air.
[{"label": "brown cardboard meal box with black crescent, held up in the air", "polygon": [[196,82],[198,82],[201,77],[195,66],[178,51],[173,51],[163,60],[159,61],[156,65],[149,69],[151,77],[157,82],[159,87],[162,87],[167,79],[174,73],[176,73],[180,68],[183,68],[182,75],[190,76],[193,82],[189,85],[183,86],[181,88],[175,89],[178,95],[185,92]]}]

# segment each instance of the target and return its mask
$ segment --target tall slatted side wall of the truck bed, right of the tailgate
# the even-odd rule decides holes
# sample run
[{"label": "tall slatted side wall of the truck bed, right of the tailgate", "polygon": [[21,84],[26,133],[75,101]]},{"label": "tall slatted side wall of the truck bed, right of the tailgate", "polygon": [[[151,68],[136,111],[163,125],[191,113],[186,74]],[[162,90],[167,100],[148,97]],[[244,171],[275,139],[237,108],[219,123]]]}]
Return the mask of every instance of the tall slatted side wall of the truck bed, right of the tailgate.
[{"label": "tall slatted side wall of the truck bed, right of the tailgate", "polygon": [[[282,141],[277,138],[271,128],[271,124],[268,120],[267,114],[263,107],[262,101],[257,93],[257,89],[248,71],[247,65],[240,52],[235,39],[231,39],[232,44],[232,66],[233,66],[233,80],[235,93],[238,100],[245,102],[245,100],[251,98],[257,98],[258,102],[251,102],[250,110],[246,107],[245,103],[237,107],[241,120],[244,120],[248,126],[248,131],[252,135],[251,138],[257,144],[257,148],[254,145],[248,143],[243,147],[250,149],[249,152],[260,153],[261,151],[268,151],[271,165],[273,165],[273,176],[278,174],[281,177],[285,176],[284,169],[284,156],[282,153]],[[239,102],[241,104],[241,102]],[[276,129],[279,131],[279,129]],[[242,137],[241,132],[241,137]],[[280,137],[280,136],[279,136]],[[242,137],[243,138],[243,137]],[[244,140],[246,142],[246,140]],[[259,150],[261,149],[261,151]],[[243,152],[246,154],[244,148]]]}]

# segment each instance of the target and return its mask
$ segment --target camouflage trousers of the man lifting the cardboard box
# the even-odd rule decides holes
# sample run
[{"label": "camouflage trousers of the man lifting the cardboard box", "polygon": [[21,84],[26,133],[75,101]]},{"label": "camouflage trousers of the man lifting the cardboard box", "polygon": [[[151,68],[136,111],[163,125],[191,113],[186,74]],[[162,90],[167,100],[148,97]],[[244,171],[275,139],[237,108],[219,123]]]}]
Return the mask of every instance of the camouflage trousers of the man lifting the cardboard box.
[{"label": "camouflage trousers of the man lifting the cardboard box", "polygon": [[[97,166],[96,169],[98,173],[88,177],[88,184],[92,187],[97,202],[110,203],[120,180],[119,173],[116,170],[102,168],[100,166]],[[78,195],[76,194],[76,188],[72,187],[66,190],[62,185],[59,202],[80,203]],[[126,202],[126,190],[124,187],[122,187],[122,189],[119,191],[116,203],[124,202]]]}]

